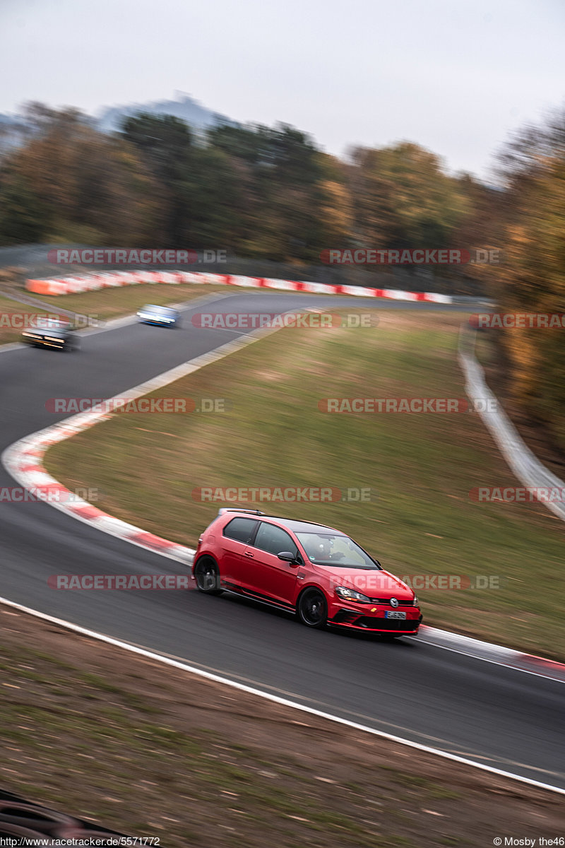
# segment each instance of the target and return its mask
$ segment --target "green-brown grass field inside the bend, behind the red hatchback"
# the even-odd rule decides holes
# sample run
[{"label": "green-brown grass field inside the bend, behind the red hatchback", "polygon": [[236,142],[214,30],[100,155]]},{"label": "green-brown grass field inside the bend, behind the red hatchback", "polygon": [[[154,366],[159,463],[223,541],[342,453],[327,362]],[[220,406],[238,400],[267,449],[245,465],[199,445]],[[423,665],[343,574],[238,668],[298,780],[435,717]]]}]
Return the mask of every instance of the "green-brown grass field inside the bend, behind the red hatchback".
[{"label": "green-brown grass field inside the bend, behind the red hatchback", "polygon": [[340,527],[401,576],[486,577],[491,588],[418,591],[424,621],[562,659],[562,523],[542,505],[470,499],[518,485],[478,416],[319,410],[324,398],[464,397],[462,315],[379,319],[275,333],[155,393],[225,399],[227,411],[114,416],[49,451],[47,468],[189,545],[225,505],[195,500],[197,488],[370,488],[368,503],[241,505]]}]

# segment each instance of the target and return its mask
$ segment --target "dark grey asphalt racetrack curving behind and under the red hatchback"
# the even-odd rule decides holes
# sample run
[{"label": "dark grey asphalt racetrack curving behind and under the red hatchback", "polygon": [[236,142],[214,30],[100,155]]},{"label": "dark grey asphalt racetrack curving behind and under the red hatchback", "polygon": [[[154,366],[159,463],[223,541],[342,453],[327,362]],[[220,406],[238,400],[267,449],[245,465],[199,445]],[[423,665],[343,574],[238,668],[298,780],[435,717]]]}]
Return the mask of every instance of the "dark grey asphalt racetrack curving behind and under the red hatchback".
[{"label": "dark grey asphalt racetrack curving behind and under the red hatchback", "polygon": [[[213,311],[230,313],[305,306],[439,308],[296,293],[226,294],[213,300]],[[191,311],[199,309],[198,304],[186,307],[179,331],[130,322],[88,334],[80,354],[0,352],[0,451],[58,420],[45,409],[49,398],[111,397],[245,334],[191,326]],[[441,309],[468,311],[469,306]],[[0,468],[0,488],[14,485]],[[49,589],[47,577],[60,573],[186,570],[41,502],[0,503],[0,561],[3,598],[353,722],[565,789],[563,689],[556,680],[418,639],[386,644],[363,634],[307,630],[283,612],[227,594]],[[373,742],[378,745],[378,739]]]}]

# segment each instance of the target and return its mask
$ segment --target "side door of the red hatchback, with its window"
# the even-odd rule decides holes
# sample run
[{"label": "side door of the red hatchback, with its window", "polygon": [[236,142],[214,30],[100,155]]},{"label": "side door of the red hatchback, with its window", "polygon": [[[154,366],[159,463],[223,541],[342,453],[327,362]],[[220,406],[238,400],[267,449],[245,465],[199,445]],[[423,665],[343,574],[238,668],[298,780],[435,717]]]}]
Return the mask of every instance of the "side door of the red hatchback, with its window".
[{"label": "side door of the red hatchback, with its window", "polygon": [[282,527],[260,522],[252,543],[243,554],[246,589],[285,605],[294,601],[298,566],[280,560],[283,550],[298,555],[296,542]]}]

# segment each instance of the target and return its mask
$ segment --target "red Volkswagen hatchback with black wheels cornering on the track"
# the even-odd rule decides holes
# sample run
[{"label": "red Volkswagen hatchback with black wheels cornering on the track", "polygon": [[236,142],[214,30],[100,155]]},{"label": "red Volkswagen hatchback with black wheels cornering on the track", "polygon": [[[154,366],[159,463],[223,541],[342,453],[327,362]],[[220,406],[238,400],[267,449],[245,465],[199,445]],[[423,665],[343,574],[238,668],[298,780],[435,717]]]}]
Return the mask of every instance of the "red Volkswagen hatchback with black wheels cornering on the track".
[{"label": "red Volkswagen hatchback with black wheels cornering on the track", "polygon": [[326,624],[390,637],[418,633],[418,598],[356,542],[323,524],[219,510],[198,539],[192,579],[206,594],[223,591]]}]

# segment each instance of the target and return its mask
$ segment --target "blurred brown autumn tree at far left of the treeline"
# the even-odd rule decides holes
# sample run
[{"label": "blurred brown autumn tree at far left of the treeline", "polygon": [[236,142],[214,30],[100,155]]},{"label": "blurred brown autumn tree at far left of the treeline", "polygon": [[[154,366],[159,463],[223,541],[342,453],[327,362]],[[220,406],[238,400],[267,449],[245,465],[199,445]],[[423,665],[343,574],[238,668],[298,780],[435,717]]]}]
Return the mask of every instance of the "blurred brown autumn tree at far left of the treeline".
[{"label": "blurred brown autumn tree at far left of the treeline", "polygon": [[159,209],[154,181],[123,139],[97,132],[75,109],[32,104],[28,142],[3,160],[3,243],[144,243]]}]

